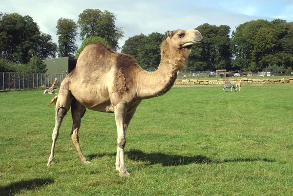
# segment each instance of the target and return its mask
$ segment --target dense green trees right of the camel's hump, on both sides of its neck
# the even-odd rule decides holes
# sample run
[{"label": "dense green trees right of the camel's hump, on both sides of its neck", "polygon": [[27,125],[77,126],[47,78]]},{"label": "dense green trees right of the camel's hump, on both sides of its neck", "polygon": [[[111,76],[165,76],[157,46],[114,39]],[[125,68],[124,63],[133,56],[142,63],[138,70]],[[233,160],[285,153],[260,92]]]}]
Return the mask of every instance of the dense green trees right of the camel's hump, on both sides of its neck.
[{"label": "dense green trees right of the camel's hump, on both sides of its neck", "polygon": [[[228,25],[197,26],[204,37],[192,46],[188,70],[271,71],[291,73],[293,69],[293,22],[252,20],[231,32]],[[122,46],[122,52],[136,58],[144,69],[156,69],[160,44],[165,34],[135,35]]]}]

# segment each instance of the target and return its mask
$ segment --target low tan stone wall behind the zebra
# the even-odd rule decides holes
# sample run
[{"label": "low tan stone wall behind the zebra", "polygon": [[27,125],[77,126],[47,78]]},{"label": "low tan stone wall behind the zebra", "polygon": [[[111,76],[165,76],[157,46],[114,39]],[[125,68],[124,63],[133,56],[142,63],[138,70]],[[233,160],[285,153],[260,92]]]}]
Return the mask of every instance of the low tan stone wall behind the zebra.
[{"label": "low tan stone wall behind the zebra", "polygon": [[[236,79],[219,79],[219,80],[196,80],[196,79],[177,79],[175,85],[224,85],[229,83],[234,85],[240,81],[241,78]],[[281,84],[293,83],[293,78],[289,79],[251,79],[242,78],[241,84]]]}]

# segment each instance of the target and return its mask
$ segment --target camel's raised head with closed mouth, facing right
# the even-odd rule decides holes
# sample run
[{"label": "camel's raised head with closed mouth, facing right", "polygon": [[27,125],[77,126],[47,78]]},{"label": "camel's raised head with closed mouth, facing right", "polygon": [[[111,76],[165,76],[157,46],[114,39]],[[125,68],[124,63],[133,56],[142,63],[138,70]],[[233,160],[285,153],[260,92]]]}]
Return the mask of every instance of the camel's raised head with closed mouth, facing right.
[{"label": "camel's raised head with closed mouth, facing right", "polygon": [[170,39],[170,44],[178,49],[188,48],[192,45],[199,44],[203,41],[203,36],[198,30],[174,30],[167,31],[167,39]]}]

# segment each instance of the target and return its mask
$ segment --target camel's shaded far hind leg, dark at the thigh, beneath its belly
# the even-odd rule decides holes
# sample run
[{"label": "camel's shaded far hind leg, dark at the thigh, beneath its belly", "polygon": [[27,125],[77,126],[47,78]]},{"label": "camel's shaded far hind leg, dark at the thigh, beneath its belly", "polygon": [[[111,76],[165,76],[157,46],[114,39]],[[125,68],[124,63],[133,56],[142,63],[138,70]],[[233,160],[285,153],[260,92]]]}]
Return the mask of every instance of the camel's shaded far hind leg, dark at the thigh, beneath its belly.
[{"label": "camel's shaded far hind leg, dark at the thigh, beneath its belly", "polygon": [[78,101],[75,99],[71,103],[71,115],[73,120],[72,125],[72,131],[71,131],[71,139],[73,141],[73,144],[82,160],[83,163],[87,164],[90,163],[86,158],[84,157],[84,154],[82,152],[82,149],[79,144],[79,137],[78,137],[78,131],[81,126],[82,117],[84,116],[85,108],[83,105],[81,105]]}]

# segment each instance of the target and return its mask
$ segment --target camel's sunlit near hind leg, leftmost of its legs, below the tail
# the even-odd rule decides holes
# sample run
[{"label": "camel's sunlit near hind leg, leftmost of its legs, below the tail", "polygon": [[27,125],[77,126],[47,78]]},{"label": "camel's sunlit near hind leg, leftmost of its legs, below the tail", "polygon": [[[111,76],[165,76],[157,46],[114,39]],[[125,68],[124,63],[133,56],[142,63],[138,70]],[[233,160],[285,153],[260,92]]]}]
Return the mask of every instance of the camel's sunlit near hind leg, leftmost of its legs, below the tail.
[{"label": "camel's sunlit near hind leg, leftmost of its legs, below the tail", "polygon": [[[60,91],[61,91],[61,89],[60,89]],[[51,154],[50,154],[47,166],[54,164],[54,160],[55,160],[54,159],[54,149],[55,149],[56,140],[59,135],[59,129],[60,129],[60,126],[61,126],[61,123],[63,121],[64,116],[66,115],[67,111],[70,108],[70,104],[72,101],[72,95],[71,95],[70,91],[67,90],[65,92],[66,93],[61,91],[61,93],[59,93],[58,99],[56,102],[55,127],[54,127],[53,134],[52,134],[53,143],[52,143]]]}]

